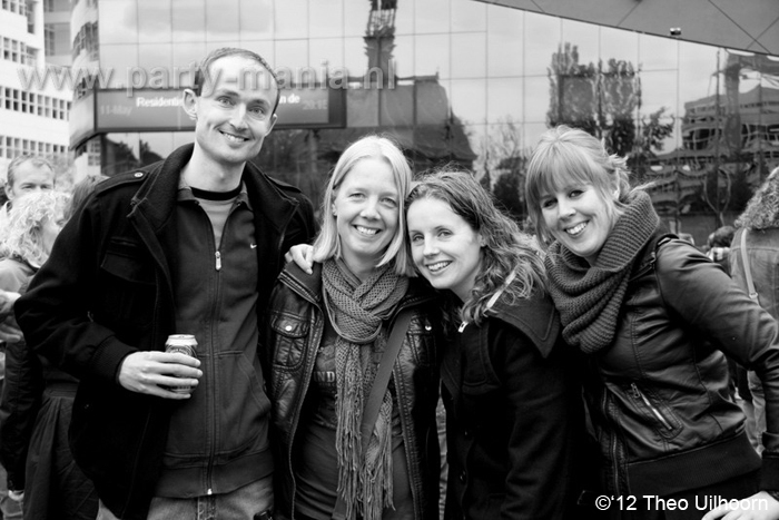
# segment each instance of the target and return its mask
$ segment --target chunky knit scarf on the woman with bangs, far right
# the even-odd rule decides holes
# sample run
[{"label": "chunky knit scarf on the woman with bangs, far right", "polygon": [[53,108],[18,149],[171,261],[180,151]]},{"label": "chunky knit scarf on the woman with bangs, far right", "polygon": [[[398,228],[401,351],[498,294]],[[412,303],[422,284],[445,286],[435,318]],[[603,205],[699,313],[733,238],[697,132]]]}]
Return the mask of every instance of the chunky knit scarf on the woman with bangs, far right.
[{"label": "chunky knit scarf on the woman with bangs, far right", "polygon": [[659,222],[649,195],[637,192],[594,266],[559,242],[550,246],[545,261],[550,293],[569,344],[588,354],[611,345],[633,264]]}]

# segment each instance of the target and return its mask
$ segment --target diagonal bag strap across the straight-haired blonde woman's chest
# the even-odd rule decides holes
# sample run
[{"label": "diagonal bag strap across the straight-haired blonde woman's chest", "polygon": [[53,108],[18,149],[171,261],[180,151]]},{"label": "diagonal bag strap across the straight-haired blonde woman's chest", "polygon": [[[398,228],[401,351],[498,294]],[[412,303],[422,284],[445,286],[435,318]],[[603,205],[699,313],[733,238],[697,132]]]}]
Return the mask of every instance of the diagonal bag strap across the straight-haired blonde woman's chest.
[{"label": "diagonal bag strap across the straight-haired blonde woman's chest", "polygon": [[[401,352],[403,339],[406,336],[406,331],[411,323],[411,310],[401,311],[397,315],[392,326],[387,345],[384,349],[384,354],[382,354],[382,361],[378,363],[378,372],[376,372],[376,379],[373,380],[371,394],[368,394],[368,400],[365,402],[365,410],[363,410],[363,424],[359,436],[361,460],[365,459],[371,434],[373,434],[373,426],[376,424],[376,419],[378,418],[378,409],[384,401],[384,394],[386,393],[389,377],[392,376],[392,369],[395,365],[397,353]],[[333,520],[344,520],[345,514],[346,501],[343,496],[338,494],[338,500],[335,502],[335,509],[333,510]]]}]

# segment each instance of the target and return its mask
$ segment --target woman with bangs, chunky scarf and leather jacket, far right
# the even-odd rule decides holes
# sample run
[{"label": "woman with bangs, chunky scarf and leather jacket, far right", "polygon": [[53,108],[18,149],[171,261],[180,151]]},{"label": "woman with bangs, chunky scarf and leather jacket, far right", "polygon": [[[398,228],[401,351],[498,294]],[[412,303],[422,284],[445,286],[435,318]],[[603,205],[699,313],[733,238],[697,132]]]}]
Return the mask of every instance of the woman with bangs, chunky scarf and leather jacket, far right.
[{"label": "woman with bangs, chunky scarf and leather jacket, far right", "polygon": [[[624,159],[561,126],[541,137],[525,186],[563,337],[588,359],[595,504],[615,519],[778,519],[777,322],[720,266],[663,236],[628,177]],[[723,353],[766,386],[762,462]]]}]

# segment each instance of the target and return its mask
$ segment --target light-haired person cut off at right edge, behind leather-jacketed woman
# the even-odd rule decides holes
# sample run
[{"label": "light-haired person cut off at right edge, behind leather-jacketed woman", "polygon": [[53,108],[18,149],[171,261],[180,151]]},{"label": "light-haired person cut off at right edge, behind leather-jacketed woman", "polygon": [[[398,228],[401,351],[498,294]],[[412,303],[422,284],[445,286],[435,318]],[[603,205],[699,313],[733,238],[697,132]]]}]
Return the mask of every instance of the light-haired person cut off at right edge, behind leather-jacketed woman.
[{"label": "light-haired person cut off at right edge, behind leather-jacketed woman", "polygon": [[[736,219],[737,232],[730,244],[730,274],[749,294],[743,255],[749,258],[755,298],[771,316],[779,320],[779,167],[747,203],[747,208]],[[758,374],[747,372],[748,389],[755,414],[750,432],[752,444],[762,452],[766,423],[766,394]]]}]

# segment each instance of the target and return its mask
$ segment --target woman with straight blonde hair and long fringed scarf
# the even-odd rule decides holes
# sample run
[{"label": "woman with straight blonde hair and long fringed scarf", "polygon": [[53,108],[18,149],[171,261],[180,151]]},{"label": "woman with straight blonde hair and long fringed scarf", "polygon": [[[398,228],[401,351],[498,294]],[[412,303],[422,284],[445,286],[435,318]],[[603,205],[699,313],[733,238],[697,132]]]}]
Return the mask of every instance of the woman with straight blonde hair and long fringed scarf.
[{"label": "woman with straight blonde hair and long fringed scarf", "polygon": [[[265,340],[277,461],[274,518],[437,519],[441,317],[433,292],[407,277],[411,176],[402,151],[385,138],[349,146],[327,184],[313,269],[289,264],[279,275]],[[405,310],[411,323],[387,362],[391,330]],[[392,377],[372,434],[363,438],[379,362],[393,363]]]}]

